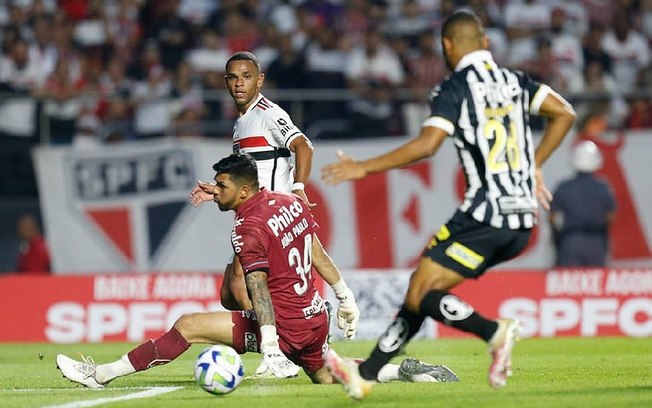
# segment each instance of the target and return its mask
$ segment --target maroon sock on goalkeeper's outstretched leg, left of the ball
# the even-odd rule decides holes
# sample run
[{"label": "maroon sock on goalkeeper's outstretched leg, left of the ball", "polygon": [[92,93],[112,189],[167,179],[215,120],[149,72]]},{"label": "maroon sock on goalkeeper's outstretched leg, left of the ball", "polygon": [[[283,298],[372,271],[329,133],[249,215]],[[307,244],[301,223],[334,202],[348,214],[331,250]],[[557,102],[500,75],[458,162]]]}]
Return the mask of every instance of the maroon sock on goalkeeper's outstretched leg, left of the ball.
[{"label": "maroon sock on goalkeeper's outstretched leg, left of the ball", "polygon": [[190,343],[176,328],[171,328],[156,340],[150,340],[127,353],[136,371],[147,370],[155,365],[167,364],[188,350]]}]

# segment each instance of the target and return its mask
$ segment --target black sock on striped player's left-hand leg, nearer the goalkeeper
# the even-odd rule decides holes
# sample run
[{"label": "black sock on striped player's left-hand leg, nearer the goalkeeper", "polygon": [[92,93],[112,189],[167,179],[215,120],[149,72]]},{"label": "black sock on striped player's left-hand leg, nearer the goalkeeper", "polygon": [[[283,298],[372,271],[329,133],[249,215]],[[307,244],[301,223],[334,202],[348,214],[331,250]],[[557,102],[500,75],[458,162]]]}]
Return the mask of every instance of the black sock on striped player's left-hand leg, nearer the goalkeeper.
[{"label": "black sock on striped player's left-hand leg, nearer the goalkeeper", "polygon": [[375,381],[380,369],[421,329],[424,319],[424,316],[412,313],[403,306],[392,324],[380,336],[371,356],[360,364],[362,378]]}]

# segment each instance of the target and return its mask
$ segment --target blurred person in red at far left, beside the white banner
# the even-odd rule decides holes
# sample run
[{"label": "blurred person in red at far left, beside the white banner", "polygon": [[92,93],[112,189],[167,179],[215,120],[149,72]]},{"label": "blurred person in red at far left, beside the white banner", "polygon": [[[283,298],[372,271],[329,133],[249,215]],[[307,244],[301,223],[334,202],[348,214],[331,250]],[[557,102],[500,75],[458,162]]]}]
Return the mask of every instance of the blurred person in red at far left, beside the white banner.
[{"label": "blurred person in red at far left, beside the white banner", "polygon": [[21,274],[50,273],[50,253],[36,218],[26,214],[18,219],[21,240],[16,271]]}]

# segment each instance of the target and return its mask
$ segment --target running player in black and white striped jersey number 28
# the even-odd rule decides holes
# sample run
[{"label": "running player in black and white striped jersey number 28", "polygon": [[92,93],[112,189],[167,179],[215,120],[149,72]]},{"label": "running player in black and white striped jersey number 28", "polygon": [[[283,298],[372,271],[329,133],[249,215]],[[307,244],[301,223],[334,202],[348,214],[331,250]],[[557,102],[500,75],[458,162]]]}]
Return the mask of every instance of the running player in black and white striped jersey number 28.
[{"label": "running player in black and white striped jersey number 28", "polygon": [[[334,352],[327,355],[331,373],[353,398],[371,391],[380,367],[403,349],[426,317],[490,345],[492,387],[502,387],[511,375],[518,322],[487,319],[449,291],[523,251],[535,224],[537,199],[549,209],[552,198],[540,168],[571,128],[575,113],[547,85],[498,66],[476,15],[452,14],[442,26],[442,46],[453,73],[433,90],[431,115],[419,136],[364,161],[339,153],[340,162],[322,169],[327,183],[361,179],[432,156],[450,136],[467,182],[464,202],[426,246],[403,307],[369,359],[357,366]],[[536,147],[530,115],[548,119]]]}]

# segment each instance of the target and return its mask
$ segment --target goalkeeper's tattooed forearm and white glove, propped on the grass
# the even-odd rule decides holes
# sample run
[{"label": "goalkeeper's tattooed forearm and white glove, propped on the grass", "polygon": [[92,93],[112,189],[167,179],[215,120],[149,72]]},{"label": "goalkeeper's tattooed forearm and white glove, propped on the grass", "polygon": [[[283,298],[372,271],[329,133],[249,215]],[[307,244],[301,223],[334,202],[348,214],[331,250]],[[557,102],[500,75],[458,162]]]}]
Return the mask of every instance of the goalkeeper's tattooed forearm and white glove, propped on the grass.
[{"label": "goalkeeper's tattooed forearm and white glove, propped on the grass", "polygon": [[295,377],[299,367],[283,354],[276,335],[276,319],[272,296],[267,287],[267,273],[249,272],[245,276],[249,298],[254,305],[256,319],[260,326],[260,351],[267,367],[279,378]]}]

